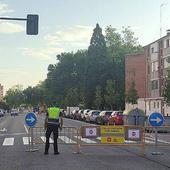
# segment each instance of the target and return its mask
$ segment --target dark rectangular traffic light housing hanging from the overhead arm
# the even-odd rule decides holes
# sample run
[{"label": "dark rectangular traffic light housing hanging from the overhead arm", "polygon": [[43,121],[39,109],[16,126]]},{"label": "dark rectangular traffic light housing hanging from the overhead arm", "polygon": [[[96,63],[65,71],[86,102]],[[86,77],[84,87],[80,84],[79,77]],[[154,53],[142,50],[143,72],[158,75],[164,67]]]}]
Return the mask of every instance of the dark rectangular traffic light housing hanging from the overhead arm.
[{"label": "dark rectangular traffic light housing hanging from the overhead arm", "polygon": [[38,34],[38,15],[27,15],[27,35]]}]

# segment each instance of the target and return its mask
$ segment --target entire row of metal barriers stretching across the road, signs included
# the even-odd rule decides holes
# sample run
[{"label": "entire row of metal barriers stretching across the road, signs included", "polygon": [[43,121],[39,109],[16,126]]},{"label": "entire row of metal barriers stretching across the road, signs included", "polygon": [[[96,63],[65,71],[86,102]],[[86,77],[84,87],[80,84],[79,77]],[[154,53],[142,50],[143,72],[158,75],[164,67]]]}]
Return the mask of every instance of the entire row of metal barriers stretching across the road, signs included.
[{"label": "entire row of metal barriers stretching across the road, signs included", "polygon": [[[82,126],[76,127],[63,127],[59,131],[58,143],[63,145],[75,146],[74,153],[81,153],[81,148],[92,146],[115,146],[115,147],[137,147],[139,148],[140,155],[145,155],[145,149],[149,146],[170,146],[169,142],[160,139],[159,135],[167,132],[170,133],[170,126],[151,127],[151,126]],[[149,133],[148,133],[149,132]],[[45,131],[43,127],[29,128],[29,149],[28,151],[35,151],[36,144],[45,143]],[[152,138],[152,141],[149,140]],[[50,143],[53,140],[50,139]]]}]

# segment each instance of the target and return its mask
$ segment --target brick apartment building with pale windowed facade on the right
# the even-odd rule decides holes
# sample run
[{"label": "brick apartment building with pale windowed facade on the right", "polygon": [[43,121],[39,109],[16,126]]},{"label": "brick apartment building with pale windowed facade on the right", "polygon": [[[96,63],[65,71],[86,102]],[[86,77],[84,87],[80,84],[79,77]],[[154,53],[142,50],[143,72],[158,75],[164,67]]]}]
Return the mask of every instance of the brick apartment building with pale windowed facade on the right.
[{"label": "brick apartment building with pale windowed facade on the right", "polygon": [[[162,97],[168,69],[170,69],[170,30],[164,37],[146,45],[144,54],[125,57],[126,91],[129,88],[129,79],[133,78],[139,95],[138,104],[133,107],[145,110],[146,115],[157,111],[170,116],[170,108]],[[126,103],[126,108],[131,107]]]}]

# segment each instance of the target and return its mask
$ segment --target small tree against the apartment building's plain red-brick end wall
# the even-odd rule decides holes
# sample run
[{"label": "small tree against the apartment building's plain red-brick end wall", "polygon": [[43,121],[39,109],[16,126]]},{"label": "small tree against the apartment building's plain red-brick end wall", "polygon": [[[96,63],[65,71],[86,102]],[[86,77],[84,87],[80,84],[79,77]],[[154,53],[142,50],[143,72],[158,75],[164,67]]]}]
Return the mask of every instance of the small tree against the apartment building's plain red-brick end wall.
[{"label": "small tree against the apartment building's plain red-brick end wall", "polygon": [[138,94],[135,89],[135,82],[131,82],[131,87],[126,94],[126,102],[131,104],[137,104]]}]

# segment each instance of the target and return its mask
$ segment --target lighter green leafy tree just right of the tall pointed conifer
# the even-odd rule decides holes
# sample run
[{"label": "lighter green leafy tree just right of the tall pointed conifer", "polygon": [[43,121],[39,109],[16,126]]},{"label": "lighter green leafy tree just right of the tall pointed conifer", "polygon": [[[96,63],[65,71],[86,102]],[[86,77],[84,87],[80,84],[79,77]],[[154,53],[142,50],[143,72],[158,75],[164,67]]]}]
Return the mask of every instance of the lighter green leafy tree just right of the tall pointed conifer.
[{"label": "lighter green leafy tree just right of the tall pointed conifer", "polygon": [[115,91],[119,95],[119,106],[124,109],[124,91],[125,91],[125,64],[126,54],[141,52],[143,49],[138,44],[137,38],[129,27],[123,27],[122,34],[115,28],[108,26],[106,28],[106,44],[108,55],[112,59],[112,80],[115,82]]}]

